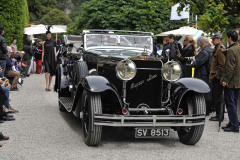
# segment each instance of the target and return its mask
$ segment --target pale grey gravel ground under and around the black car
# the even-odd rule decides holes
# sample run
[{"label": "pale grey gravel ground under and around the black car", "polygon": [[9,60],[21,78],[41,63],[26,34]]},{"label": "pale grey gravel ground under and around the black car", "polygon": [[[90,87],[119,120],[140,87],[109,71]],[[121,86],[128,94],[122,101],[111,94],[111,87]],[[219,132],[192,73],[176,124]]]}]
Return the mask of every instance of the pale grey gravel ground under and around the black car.
[{"label": "pale grey gravel ground under and around the black car", "polygon": [[102,145],[88,147],[81,122],[60,113],[57,94],[44,87],[44,75],[32,75],[19,92],[11,92],[11,104],[20,113],[16,121],[0,124],[0,131],[10,136],[0,142],[0,160],[240,159],[240,134],[217,132],[218,124],[208,120],[195,146],[180,143],[175,132],[170,139],[135,139],[133,131],[104,128]]}]

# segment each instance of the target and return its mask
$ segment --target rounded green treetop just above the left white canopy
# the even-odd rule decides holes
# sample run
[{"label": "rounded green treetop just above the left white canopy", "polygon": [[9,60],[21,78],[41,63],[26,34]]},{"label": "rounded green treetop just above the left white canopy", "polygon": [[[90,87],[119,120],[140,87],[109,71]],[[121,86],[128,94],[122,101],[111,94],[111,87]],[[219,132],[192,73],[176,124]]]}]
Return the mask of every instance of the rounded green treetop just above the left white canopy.
[{"label": "rounded green treetop just above the left white canopy", "polygon": [[40,23],[53,25],[68,25],[72,23],[72,20],[63,11],[53,9],[40,20]]}]

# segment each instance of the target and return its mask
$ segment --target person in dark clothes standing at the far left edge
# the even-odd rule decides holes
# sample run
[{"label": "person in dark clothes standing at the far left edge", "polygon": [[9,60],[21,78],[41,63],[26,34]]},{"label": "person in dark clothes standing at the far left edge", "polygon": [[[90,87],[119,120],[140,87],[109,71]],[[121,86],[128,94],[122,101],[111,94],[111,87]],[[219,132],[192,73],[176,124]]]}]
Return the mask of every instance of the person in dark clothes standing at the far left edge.
[{"label": "person in dark clothes standing at the far left edge", "polygon": [[0,66],[2,68],[2,73],[0,73],[0,77],[4,76],[5,68],[6,68],[6,54],[7,54],[7,45],[4,35],[4,28],[0,26]]}]

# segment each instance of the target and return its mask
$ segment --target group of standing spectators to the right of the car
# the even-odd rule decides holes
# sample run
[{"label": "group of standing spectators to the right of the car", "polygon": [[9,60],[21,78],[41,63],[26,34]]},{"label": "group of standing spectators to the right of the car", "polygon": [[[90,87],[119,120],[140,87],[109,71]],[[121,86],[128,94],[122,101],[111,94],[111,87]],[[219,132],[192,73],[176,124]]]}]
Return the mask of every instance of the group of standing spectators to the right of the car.
[{"label": "group of standing spectators to the right of the car", "polygon": [[[182,78],[199,78],[210,86],[211,92],[204,94],[206,115],[216,112],[216,116],[210,117],[210,121],[223,120],[224,113],[219,114],[221,114],[221,95],[225,91],[224,101],[229,123],[222,129],[226,132],[239,132],[240,101],[237,106],[240,88],[239,31],[240,29],[236,29],[227,32],[227,49],[222,44],[222,35],[219,33],[211,37],[213,48],[210,40],[202,37],[199,49],[193,36],[185,36],[181,47],[176,37],[171,34],[163,40],[163,51],[160,56],[163,62],[167,62],[168,59],[178,61],[182,66]],[[192,74],[193,68],[194,74]]]}]

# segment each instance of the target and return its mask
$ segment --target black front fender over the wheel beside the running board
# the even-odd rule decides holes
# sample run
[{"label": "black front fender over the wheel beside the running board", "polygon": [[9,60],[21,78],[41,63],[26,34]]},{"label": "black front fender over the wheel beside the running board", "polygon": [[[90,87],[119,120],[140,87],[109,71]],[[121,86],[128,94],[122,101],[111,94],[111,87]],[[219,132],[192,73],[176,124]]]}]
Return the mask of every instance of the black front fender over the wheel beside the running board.
[{"label": "black front fender over the wheel beside the running board", "polygon": [[[79,98],[81,99],[83,90],[86,89],[88,92],[102,93],[110,90],[118,99],[120,106],[123,106],[123,102],[117,90],[110,85],[109,81],[102,76],[90,75],[84,77],[78,84],[77,92],[75,95],[73,107],[75,110]],[[78,97],[78,98],[76,98]]]}]

